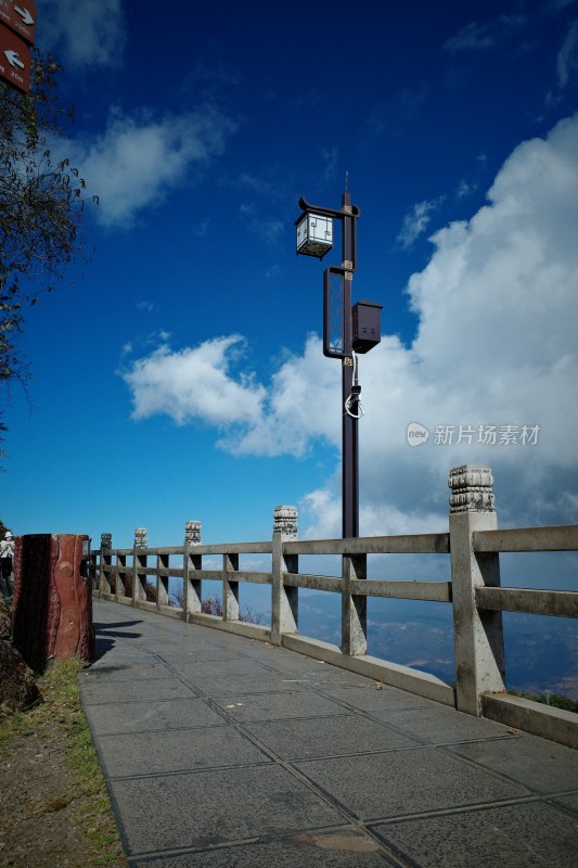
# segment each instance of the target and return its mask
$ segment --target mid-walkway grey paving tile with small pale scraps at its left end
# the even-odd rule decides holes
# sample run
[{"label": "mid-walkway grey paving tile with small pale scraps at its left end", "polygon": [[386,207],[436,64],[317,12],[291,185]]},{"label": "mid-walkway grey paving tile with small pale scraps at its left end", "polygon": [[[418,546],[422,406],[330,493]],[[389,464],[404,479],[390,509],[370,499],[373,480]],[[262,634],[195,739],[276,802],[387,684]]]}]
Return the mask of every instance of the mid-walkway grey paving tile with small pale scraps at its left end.
[{"label": "mid-walkway grey paving tile with small pale scraps at its left end", "polygon": [[214,702],[219,707],[227,709],[228,714],[241,723],[347,714],[336,703],[306,690],[233,694],[215,699]]}]

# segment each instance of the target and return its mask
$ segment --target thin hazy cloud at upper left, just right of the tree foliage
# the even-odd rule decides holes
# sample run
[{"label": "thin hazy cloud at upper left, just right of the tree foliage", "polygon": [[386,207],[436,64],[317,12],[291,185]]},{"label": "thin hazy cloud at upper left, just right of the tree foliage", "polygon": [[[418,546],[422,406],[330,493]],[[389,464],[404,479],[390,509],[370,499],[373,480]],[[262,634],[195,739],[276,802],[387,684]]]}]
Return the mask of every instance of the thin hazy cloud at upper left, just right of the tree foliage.
[{"label": "thin hazy cloud at upper left, just right of the tree foliage", "polygon": [[214,110],[156,118],[113,111],[102,136],[66,142],[91,194],[97,219],[130,227],[145,207],[159,204],[193,165],[222,153],[234,124]]}]

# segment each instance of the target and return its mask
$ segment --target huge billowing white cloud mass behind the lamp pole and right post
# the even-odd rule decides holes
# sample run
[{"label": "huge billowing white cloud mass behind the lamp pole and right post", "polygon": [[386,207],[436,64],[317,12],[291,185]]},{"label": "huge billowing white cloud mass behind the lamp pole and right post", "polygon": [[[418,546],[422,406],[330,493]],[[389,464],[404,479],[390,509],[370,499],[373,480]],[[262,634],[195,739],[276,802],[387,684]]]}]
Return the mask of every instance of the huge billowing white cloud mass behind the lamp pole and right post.
[{"label": "huge billowing white cloud mass behind the lamp pole and right post", "polygon": [[[412,345],[385,335],[360,360],[361,533],[435,528],[448,471],[478,462],[494,470],[504,523],[576,520],[577,225],[578,115],[521,144],[487,204],[432,237],[431,260],[408,285],[419,318]],[[229,369],[237,345],[223,337],[138,361],[125,378],[134,416],[204,418],[236,455],[303,456],[323,444],[335,474],[304,507],[314,535],[338,535],[341,367],[310,335],[258,384]],[[191,359],[207,354],[201,417]],[[205,408],[207,391],[219,411]],[[419,447],[408,442],[410,423],[428,432]]]}]

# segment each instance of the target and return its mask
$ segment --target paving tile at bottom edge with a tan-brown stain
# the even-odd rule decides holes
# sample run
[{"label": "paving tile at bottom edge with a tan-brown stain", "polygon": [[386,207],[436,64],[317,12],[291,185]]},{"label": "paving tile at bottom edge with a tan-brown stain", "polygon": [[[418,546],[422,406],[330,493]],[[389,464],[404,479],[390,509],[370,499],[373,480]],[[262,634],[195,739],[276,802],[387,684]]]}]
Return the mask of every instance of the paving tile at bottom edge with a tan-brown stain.
[{"label": "paving tile at bottom edge with a tan-brown stain", "polygon": [[279,841],[130,859],[130,868],[385,868],[380,845],[344,827]]}]

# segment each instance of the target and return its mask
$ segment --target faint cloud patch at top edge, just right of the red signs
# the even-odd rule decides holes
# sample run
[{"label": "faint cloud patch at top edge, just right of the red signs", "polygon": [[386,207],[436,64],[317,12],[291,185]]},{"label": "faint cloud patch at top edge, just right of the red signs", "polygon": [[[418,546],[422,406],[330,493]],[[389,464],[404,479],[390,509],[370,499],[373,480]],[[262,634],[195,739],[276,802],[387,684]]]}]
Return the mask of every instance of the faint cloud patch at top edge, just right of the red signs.
[{"label": "faint cloud patch at top edge, just right of the red signs", "polygon": [[123,0],[42,3],[41,41],[72,67],[119,66],[126,29]]}]

